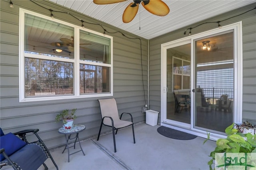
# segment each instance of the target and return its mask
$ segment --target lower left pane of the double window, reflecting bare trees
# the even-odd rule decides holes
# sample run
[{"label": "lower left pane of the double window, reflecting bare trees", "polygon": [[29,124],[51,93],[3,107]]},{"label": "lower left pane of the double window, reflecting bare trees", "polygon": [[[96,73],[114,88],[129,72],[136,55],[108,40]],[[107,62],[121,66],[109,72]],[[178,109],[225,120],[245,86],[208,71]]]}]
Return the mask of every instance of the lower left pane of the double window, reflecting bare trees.
[{"label": "lower left pane of the double window, reflecting bare trees", "polygon": [[74,94],[73,63],[25,58],[25,97]]}]

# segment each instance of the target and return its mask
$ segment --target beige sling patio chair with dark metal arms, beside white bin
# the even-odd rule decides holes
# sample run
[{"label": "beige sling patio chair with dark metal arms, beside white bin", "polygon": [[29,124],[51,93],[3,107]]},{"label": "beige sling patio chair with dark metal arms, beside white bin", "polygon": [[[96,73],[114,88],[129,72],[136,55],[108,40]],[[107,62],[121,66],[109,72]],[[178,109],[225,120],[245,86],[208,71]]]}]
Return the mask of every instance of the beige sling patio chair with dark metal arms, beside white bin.
[{"label": "beige sling patio chair with dark metal arms, beside white bin", "polygon": [[[100,99],[98,101],[100,103],[100,111],[101,111],[101,116],[102,116],[102,121],[100,124],[100,131],[101,131],[102,125],[112,127],[115,152],[116,152],[116,139],[115,139],[115,132],[114,132],[115,130],[117,133],[118,129],[132,125],[133,141],[135,143],[132,115],[130,113],[126,113],[126,114],[130,115],[131,121],[123,121],[123,120],[121,120],[121,118],[124,113],[122,113],[119,118],[118,109],[116,106],[116,100],[114,98]],[[98,134],[97,141],[99,140],[99,137],[100,137],[100,131]]]}]

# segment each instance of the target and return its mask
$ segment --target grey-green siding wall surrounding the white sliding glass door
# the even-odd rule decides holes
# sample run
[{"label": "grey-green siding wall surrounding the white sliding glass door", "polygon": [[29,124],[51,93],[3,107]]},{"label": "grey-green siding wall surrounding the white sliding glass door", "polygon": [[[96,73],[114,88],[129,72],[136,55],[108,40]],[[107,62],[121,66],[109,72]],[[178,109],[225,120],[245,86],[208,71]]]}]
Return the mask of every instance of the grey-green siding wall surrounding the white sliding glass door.
[{"label": "grey-green siding wall surrounding the white sliding glass door", "polygon": [[[238,14],[242,14],[253,9],[256,3],[250,4],[243,8],[239,8],[225,14],[221,14],[209,18],[192,25],[188,25],[182,29],[172,31],[165,35],[161,35],[154,39],[150,39],[150,58],[149,58],[149,103],[154,109],[160,111],[161,102],[161,44],[176,39],[181,39],[188,35],[184,35],[184,30],[189,27],[195,27],[204,22],[221,21]],[[243,14],[223,21],[221,25],[228,25],[242,21],[243,35],[243,120],[250,120],[256,123],[256,10],[252,10]],[[216,23],[203,24],[192,29],[192,34],[200,33],[216,28]],[[159,119],[158,119],[159,121]]]}]

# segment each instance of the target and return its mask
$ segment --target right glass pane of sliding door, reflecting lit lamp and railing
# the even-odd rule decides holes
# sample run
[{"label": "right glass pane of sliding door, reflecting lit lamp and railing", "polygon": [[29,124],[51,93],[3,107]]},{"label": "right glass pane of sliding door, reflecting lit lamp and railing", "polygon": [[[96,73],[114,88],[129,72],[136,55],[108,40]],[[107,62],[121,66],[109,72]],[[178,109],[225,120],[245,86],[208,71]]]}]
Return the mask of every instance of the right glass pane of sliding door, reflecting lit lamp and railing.
[{"label": "right glass pane of sliding door, reflecting lit lamp and railing", "polygon": [[197,39],[194,127],[224,133],[234,121],[234,33]]}]

